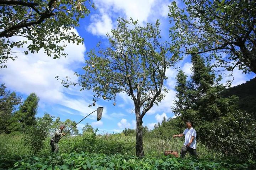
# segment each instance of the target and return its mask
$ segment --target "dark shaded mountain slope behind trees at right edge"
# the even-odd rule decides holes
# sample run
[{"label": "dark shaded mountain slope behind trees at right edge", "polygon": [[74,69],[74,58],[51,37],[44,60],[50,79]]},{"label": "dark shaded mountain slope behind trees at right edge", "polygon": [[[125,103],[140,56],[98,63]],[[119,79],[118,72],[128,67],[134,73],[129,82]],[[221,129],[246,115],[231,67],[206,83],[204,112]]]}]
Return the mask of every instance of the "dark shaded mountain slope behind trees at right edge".
[{"label": "dark shaded mountain slope behind trees at right edge", "polygon": [[226,89],[224,97],[236,95],[242,110],[256,115],[256,77],[246,83]]}]

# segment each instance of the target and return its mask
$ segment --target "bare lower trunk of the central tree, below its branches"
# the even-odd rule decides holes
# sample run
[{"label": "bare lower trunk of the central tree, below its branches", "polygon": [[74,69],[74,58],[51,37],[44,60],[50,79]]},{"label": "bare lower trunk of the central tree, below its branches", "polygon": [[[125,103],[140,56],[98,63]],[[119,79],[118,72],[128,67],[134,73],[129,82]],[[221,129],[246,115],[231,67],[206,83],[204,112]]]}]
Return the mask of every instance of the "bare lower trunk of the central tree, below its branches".
[{"label": "bare lower trunk of the central tree, below its branches", "polygon": [[144,157],[143,151],[143,126],[142,126],[142,118],[140,117],[140,109],[135,109],[136,114],[136,155],[137,157]]}]

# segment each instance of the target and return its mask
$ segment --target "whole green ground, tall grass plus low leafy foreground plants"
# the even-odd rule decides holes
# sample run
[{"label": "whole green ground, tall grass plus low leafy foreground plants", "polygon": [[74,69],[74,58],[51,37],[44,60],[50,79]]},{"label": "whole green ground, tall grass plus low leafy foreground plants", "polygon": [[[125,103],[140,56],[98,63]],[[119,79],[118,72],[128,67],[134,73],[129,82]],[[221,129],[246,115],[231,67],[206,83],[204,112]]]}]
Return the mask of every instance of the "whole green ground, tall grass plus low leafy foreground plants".
[{"label": "whole green ground, tall grass plus low leafy foreground plants", "polygon": [[0,169],[254,169],[252,160],[241,161],[198,143],[199,159],[164,156],[164,150],[180,151],[183,139],[144,138],[144,158],[135,156],[135,137],[122,134],[66,136],[58,154],[50,153],[50,137],[36,155],[29,155],[23,134],[0,134]]}]

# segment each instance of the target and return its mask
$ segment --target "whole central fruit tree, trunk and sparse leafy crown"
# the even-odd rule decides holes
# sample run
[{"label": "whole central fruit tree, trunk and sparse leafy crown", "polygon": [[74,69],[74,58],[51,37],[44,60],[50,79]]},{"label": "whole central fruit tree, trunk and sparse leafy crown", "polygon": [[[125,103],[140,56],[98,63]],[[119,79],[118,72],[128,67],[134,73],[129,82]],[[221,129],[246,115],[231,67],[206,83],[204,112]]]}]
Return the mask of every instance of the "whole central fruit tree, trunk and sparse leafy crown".
[{"label": "whole central fruit tree, trunk and sparse leafy crown", "polygon": [[[114,100],[116,105],[116,96],[122,92],[132,98],[137,120],[136,154],[143,156],[142,118],[164,98],[166,69],[177,56],[170,58],[170,44],[161,42],[158,21],[145,27],[132,19],[119,18],[117,23],[117,29],[107,34],[110,46],[101,48],[98,44],[98,51],[87,53],[85,73],[77,73],[78,84],[81,90],[95,92],[93,106],[99,98]],[[69,86],[65,81],[62,83]]]}]

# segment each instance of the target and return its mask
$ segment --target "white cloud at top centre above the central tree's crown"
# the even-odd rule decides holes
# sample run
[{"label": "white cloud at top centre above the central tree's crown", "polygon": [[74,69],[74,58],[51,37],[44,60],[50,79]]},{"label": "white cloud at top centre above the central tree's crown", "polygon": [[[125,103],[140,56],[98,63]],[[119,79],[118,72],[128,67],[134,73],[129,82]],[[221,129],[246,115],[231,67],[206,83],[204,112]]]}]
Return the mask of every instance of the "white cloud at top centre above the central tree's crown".
[{"label": "white cloud at top centre above the central tree's crown", "polygon": [[170,5],[169,0],[94,0],[97,14],[90,15],[91,24],[87,28],[94,35],[105,37],[116,27],[116,19],[123,16],[125,19],[139,20],[140,26],[148,22],[155,22],[161,17],[167,18]]}]

